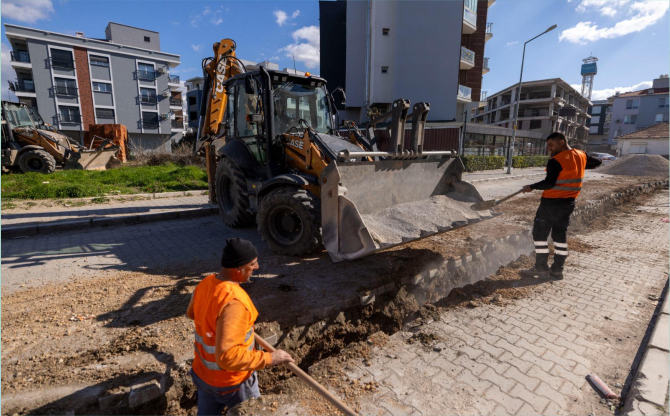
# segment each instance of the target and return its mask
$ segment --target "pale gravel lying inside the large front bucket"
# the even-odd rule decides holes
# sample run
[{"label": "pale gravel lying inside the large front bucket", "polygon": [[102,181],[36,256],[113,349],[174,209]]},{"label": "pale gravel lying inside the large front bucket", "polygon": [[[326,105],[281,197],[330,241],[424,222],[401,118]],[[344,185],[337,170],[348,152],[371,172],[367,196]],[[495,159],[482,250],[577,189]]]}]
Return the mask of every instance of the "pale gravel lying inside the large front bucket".
[{"label": "pale gravel lying inside the large front bucket", "polygon": [[398,204],[362,215],[363,222],[379,247],[400,244],[444,232],[483,218],[489,211],[473,211],[477,199],[463,194],[436,195],[427,200]]}]

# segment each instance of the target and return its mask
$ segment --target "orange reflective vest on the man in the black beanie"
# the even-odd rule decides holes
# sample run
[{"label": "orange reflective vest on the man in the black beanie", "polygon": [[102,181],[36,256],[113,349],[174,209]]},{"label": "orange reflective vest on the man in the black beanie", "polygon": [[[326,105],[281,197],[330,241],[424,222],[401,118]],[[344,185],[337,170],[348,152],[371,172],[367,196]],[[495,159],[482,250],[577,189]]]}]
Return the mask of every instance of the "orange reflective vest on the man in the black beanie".
[{"label": "orange reflective vest on the man in the black beanie", "polygon": [[216,320],[223,308],[232,300],[242,303],[251,315],[243,343],[243,346],[251,351],[255,347],[254,322],[258,318],[258,311],[247,292],[238,284],[217,279],[214,274],[203,279],[193,292],[193,314],[195,316],[193,371],[205,383],[214,387],[237,387],[252,373],[251,371],[222,370],[216,363]]}]

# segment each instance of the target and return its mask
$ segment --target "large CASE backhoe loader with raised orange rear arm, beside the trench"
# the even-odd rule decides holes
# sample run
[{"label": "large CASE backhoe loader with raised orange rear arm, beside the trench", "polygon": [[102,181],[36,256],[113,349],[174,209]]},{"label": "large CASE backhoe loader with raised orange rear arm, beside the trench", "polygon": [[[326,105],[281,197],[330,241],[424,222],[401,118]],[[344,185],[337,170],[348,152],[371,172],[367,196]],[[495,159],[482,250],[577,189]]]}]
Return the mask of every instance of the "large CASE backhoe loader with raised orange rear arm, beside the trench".
[{"label": "large CASE backhoe loader with raised orange rear arm, beside the trench", "polygon": [[[207,161],[210,201],[227,225],[255,220],[277,253],[304,255],[323,244],[341,261],[492,216],[471,209],[483,199],[461,181],[455,151],[423,150],[428,103],[408,114],[409,101],[398,99],[368,123],[366,135],[350,121],[340,135],[326,80],[264,67],[247,72],[235,48],[224,39],[203,60],[196,143]],[[379,150],[374,135],[384,121],[389,151]]]}]

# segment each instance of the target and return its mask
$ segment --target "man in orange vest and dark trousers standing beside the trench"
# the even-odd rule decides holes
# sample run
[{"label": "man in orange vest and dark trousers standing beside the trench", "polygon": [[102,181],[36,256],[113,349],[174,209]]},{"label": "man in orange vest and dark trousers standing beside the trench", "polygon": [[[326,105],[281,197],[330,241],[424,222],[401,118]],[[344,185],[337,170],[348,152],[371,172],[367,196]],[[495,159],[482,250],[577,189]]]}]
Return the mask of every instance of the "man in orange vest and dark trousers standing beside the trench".
[{"label": "man in orange vest and dark trousers standing beside the trench", "polygon": [[[575,209],[575,200],[582,189],[584,169],[595,169],[602,161],[586,154],[582,150],[568,145],[565,135],[560,132],[547,136],[547,150],[551,154],[547,162],[547,177],[544,180],[526,185],[524,192],[542,190],[540,207],[533,222],[533,241],[535,242],[535,266],[521,270],[520,274],[530,277],[563,279],[563,266],[568,257],[568,225],[570,215]],[[549,244],[547,238],[554,240],[554,263],[549,269]]]}]

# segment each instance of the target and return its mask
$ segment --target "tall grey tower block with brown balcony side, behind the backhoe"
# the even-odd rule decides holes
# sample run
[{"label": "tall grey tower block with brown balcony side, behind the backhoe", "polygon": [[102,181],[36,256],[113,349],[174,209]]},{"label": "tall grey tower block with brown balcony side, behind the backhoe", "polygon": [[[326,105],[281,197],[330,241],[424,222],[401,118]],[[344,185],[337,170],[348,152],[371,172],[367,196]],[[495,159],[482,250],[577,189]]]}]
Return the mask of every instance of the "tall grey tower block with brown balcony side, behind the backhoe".
[{"label": "tall grey tower block with brown balcony side, behind the backhoe", "polygon": [[479,106],[493,0],[320,1],[321,76],[343,87],[343,118],[363,122],[393,100],[430,103],[429,122]]}]

